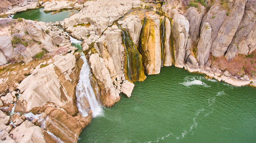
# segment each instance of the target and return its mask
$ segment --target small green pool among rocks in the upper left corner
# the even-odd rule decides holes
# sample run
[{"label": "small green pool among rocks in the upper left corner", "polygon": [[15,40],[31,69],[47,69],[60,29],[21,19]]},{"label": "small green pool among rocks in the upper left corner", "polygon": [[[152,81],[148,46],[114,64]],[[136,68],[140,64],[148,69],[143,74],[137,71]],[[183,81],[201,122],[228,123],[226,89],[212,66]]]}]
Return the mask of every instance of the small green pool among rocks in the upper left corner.
[{"label": "small green pool among rocks in the upper left corner", "polygon": [[78,13],[77,10],[68,10],[68,11],[61,11],[56,14],[52,14],[52,12],[44,12],[44,8],[28,10],[24,12],[19,12],[14,14],[13,18],[17,19],[24,18],[30,19],[34,21],[44,21],[44,22],[55,22],[55,21],[62,21],[65,18],[72,16],[74,13]]}]

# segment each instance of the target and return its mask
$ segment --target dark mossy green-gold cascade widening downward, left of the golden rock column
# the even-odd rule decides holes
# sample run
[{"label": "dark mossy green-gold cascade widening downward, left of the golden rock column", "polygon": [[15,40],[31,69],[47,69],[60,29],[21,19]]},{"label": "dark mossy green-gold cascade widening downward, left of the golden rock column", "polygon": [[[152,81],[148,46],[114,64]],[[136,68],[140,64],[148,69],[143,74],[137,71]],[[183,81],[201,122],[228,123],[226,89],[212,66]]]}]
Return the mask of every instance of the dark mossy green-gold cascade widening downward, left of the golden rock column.
[{"label": "dark mossy green-gold cascade widening downward, left of the golden rock column", "polygon": [[143,81],[145,79],[144,67],[142,65],[142,56],[139,53],[137,47],[134,45],[133,41],[127,30],[121,28],[122,30],[122,44],[125,48],[126,62],[125,62],[125,74],[126,78],[130,81]]}]

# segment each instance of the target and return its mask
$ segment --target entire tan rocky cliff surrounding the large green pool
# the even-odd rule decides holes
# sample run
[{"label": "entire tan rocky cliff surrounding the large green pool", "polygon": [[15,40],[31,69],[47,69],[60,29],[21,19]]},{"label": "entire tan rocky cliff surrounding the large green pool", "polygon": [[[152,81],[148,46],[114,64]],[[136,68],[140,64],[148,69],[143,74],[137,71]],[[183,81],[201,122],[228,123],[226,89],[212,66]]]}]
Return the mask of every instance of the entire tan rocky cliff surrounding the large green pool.
[{"label": "entire tan rocky cliff surrounding the large green pool", "polygon": [[55,23],[0,19],[0,136],[5,142],[76,142],[91,121],[88,99],[82,100],[86,117],[76,104],[83,61],[57,26],[83,41],[91,85],[105,107],[119,101],[120,93],[130,97],[134,81],[159,74],[162,66],[237,86],[256,84],[255,1],[39,3],[46,11],[81,10]]}]

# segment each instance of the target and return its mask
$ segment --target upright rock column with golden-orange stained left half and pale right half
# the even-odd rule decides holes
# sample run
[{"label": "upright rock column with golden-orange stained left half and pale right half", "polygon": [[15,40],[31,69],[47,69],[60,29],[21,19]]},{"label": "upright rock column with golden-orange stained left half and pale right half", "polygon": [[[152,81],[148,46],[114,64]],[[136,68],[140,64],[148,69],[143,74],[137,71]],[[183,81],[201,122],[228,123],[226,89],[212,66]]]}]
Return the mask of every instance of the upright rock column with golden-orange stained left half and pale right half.
[{"label": "upright rock column with golden-orange stained left half and pale right half", "polygon": [[145,13],[146,22],[141,33],[141,54],[148,75],[159,74],[161,69],[160,17]]}]

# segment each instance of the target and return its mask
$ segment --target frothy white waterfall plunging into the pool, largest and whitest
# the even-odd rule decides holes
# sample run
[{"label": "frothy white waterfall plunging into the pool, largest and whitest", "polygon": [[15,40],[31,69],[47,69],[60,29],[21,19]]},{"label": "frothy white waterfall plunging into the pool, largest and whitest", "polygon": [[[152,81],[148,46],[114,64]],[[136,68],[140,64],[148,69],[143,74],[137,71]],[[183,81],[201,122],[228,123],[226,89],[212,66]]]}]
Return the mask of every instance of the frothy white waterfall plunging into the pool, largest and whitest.
[{"label": "frothy white waterfall plunging into the pool, largest and whitest", "polygon": [[96,117],[101,114],[102,108],[96,99],[91,85],[91,71],[90,66],[86,60],[86,55],[84,55],[83,52],[80,54],[83,65],[80,71],[79,81],[76,85],[76,104],[81,115],[86,117],[88,116],[88,107],[84,101],[87,100],[93,112],[93,117]]}]

